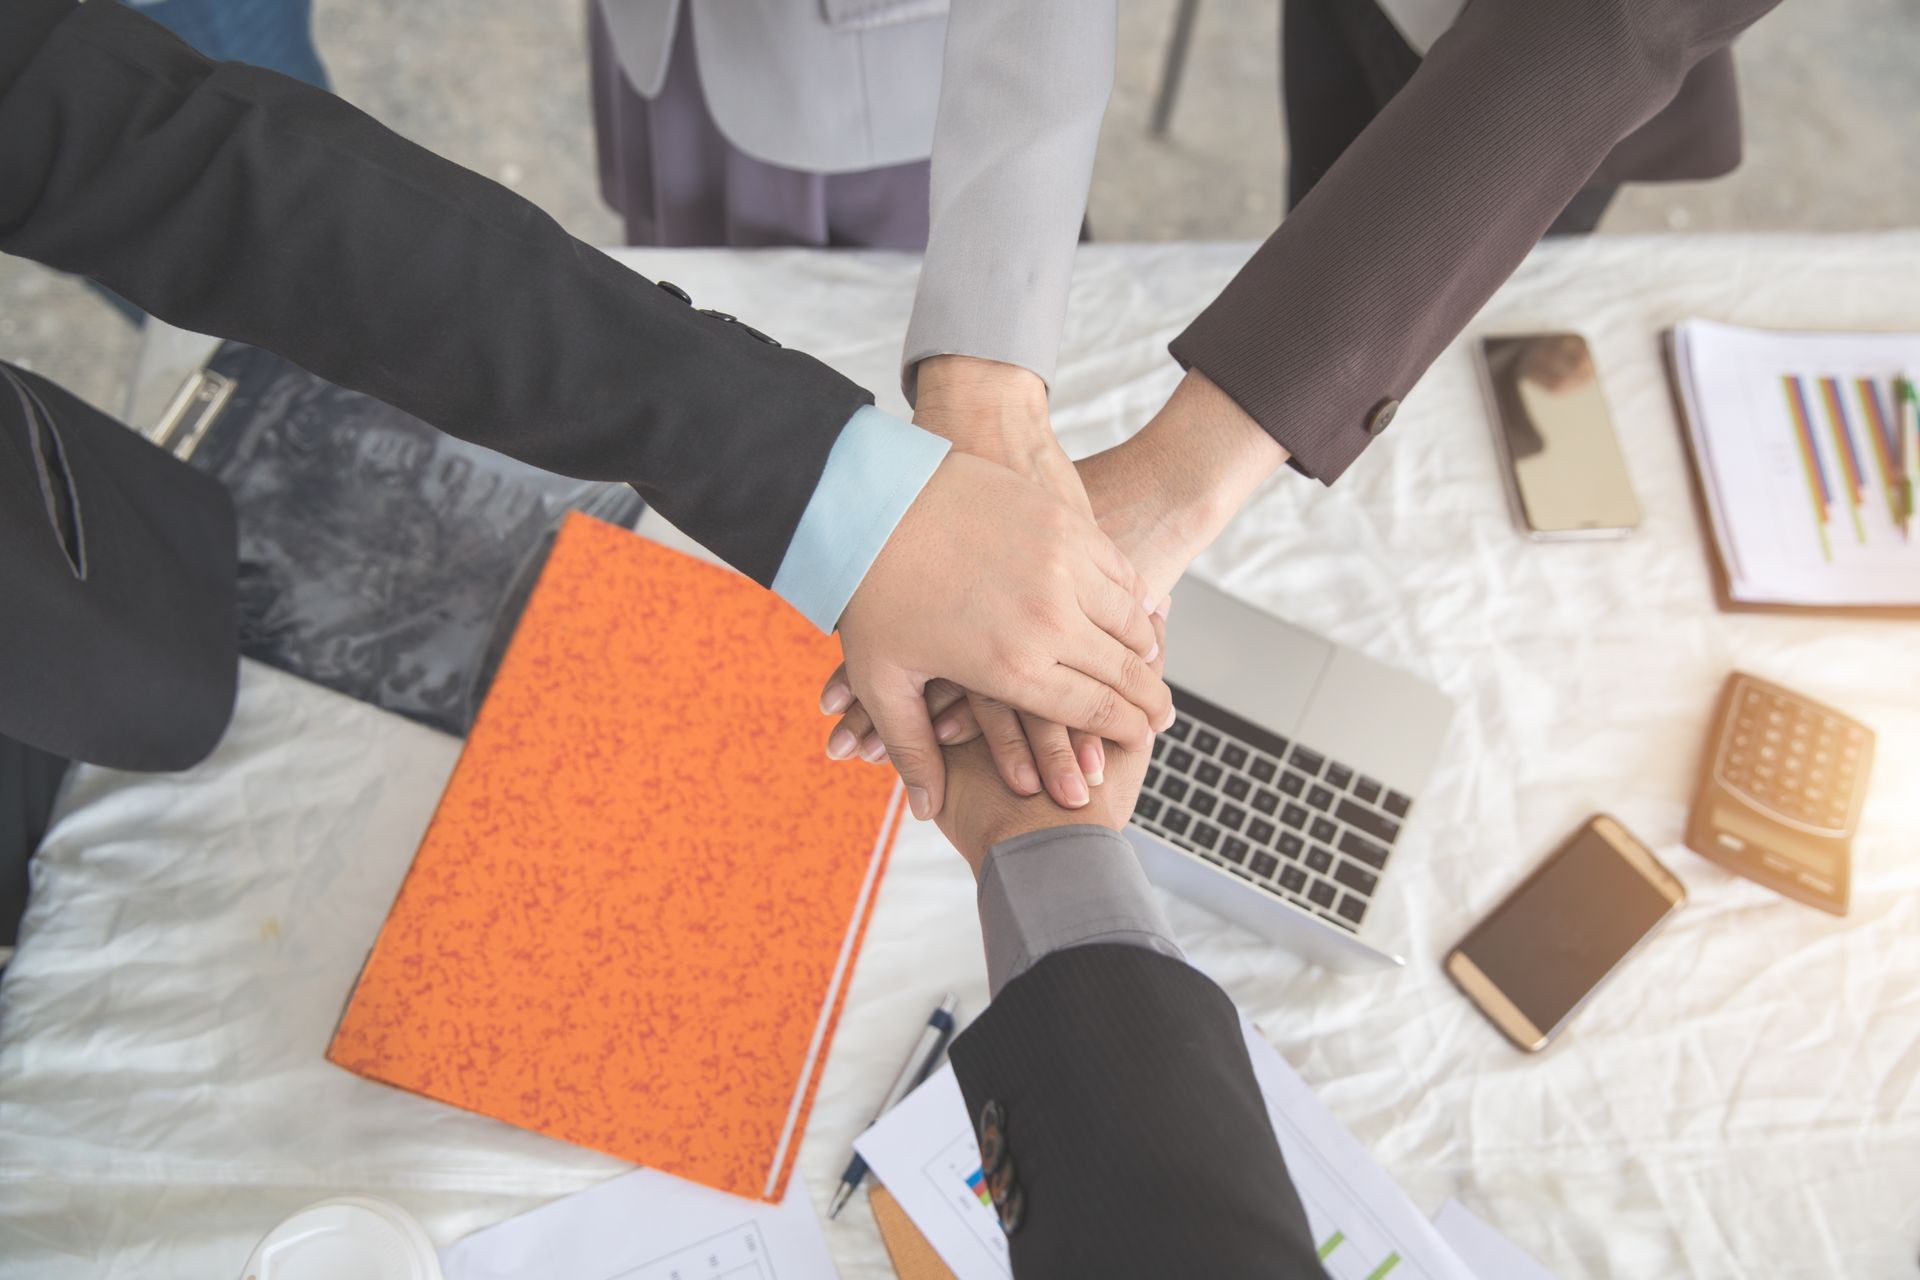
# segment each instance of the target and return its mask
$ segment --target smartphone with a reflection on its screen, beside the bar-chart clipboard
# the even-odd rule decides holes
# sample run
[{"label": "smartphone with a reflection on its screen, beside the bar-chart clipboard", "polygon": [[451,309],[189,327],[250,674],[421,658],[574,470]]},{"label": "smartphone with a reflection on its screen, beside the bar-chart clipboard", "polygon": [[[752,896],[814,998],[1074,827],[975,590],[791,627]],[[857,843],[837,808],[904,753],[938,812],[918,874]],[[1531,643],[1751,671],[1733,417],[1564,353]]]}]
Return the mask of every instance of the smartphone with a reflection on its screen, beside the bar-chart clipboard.
[{"label": "smartphone with a reflection on its screen, beside the bar-chart clipboard", "polygon": [[1640,524],[1586,338],[1484,338],[1480,359],[1521,522],[1542,537],[1619,535]]}]

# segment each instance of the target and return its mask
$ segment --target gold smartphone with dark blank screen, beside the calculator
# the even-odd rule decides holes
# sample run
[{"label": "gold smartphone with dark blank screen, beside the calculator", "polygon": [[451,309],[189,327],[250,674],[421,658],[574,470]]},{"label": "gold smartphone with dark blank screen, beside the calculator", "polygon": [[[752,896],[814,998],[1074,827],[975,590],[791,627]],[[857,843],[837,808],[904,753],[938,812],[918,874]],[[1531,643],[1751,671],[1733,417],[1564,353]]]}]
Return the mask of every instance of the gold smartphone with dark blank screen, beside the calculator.
[{"label": "gold smartphone with dark blank screen, beside the calculator", "polygon": [[1601,814],[1475,925],[1446,971],[1501,1034],[1538,1054],[1682,902],[1674,873]]}]

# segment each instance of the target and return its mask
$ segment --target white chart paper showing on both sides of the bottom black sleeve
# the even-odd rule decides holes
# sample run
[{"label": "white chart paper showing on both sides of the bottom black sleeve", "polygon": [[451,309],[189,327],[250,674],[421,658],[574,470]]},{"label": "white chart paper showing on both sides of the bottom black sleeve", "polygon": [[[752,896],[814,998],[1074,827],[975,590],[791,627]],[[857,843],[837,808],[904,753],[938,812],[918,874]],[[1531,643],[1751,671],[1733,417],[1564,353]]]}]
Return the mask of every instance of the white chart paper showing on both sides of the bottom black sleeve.
[{"label": "white chart paper showing on both sides of the bottom black sleeve", "polygon": [[[1476,1280],[1273,1046],[1252,1025],[1242,1031],[1327,1274]],[[979,1192],[979,1148],[952,1067],[908,1094],[854,1148],[960,1280],[1012,1276],[1006,1238]]]}]

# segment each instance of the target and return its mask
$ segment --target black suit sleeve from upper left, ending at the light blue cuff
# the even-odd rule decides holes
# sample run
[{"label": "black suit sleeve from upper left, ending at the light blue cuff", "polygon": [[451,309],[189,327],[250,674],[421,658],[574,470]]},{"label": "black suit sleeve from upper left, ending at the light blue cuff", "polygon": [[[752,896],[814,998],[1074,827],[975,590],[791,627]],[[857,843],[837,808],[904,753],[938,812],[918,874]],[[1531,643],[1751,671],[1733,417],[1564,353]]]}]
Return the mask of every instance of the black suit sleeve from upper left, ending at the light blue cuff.
[{"label": "black suit sleeve from upper left, ending at the light blue cuff", "polygon": [[872,395],[513,192],[119,4],[0,6],[0,249],[547,470],[762,583]]}]

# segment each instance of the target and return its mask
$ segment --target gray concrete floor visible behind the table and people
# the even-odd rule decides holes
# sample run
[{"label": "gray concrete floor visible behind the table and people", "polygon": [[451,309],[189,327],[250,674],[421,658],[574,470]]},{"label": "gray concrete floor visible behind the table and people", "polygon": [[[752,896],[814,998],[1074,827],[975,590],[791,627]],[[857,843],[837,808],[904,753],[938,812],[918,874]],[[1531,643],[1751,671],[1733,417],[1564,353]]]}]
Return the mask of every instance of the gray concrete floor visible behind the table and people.
[{"label": "gray concrete floor visible behind the table and people", "polygon": [[[100,0],[106,2],[106,0]],[[1102,240],[1225,240],[1281,217],[1275,0],[1204,0],[1165,140],[1146,134],[1175,0],[1121,4],[1091,217]],[[401,134],[522,192],[584,240],[599,203],[584,4],[317,0],[336,88]],[[1920,4],[1789,0],[1740,46],[1747,161],[1624,192],[1603,232],[1920,225]],[[0,257],[0,357],[117,411],[138,334],[86,286]]]}]

